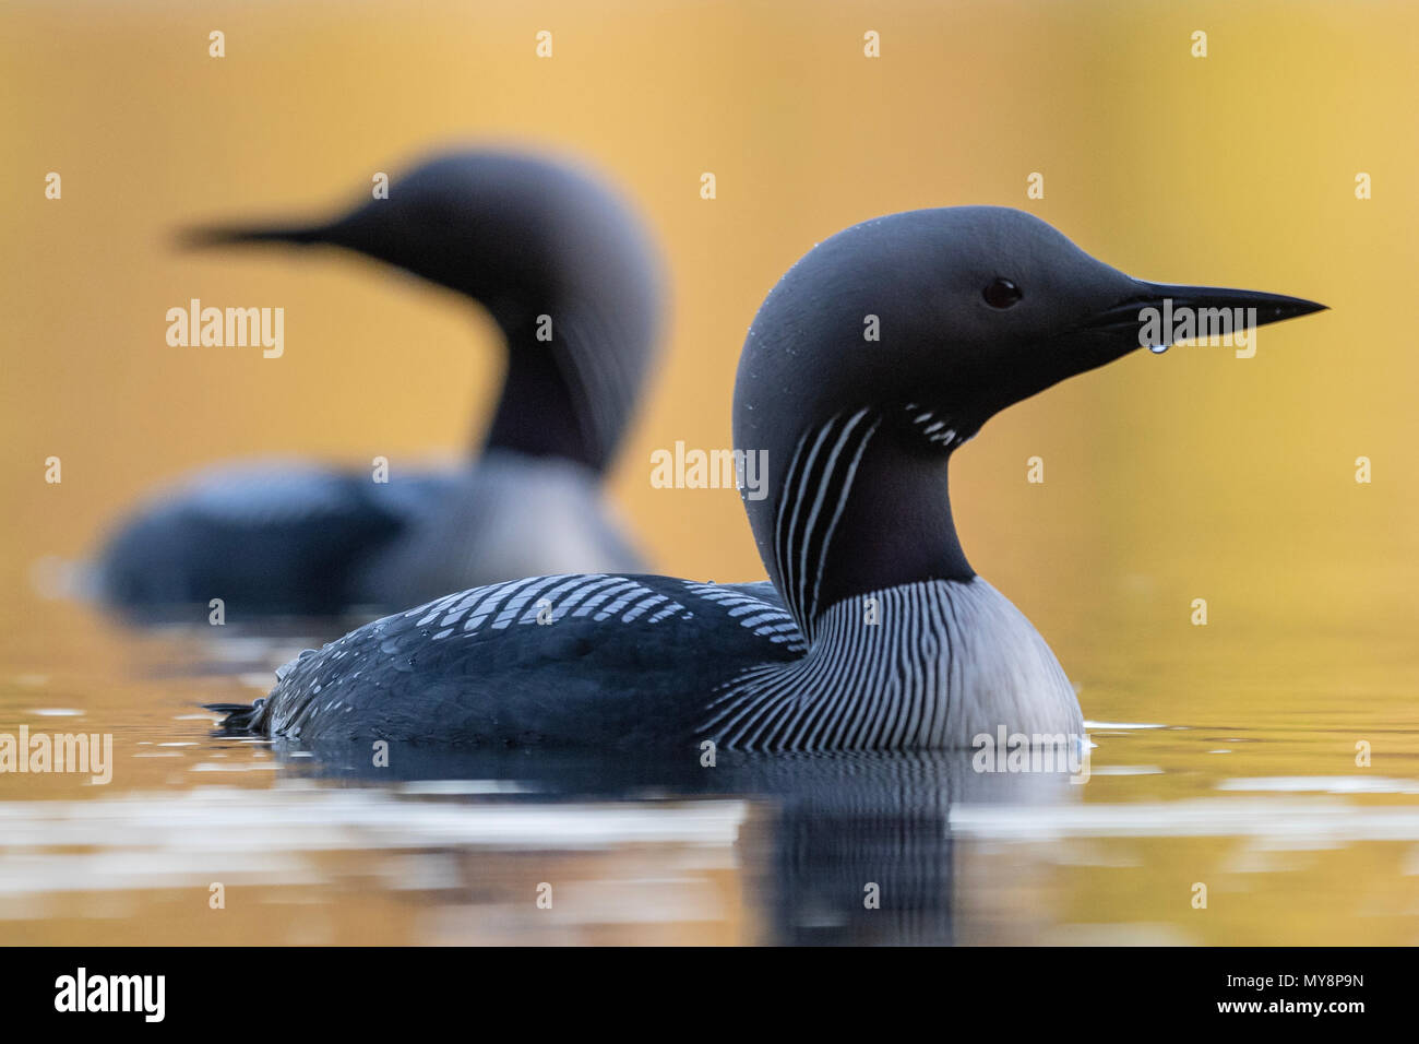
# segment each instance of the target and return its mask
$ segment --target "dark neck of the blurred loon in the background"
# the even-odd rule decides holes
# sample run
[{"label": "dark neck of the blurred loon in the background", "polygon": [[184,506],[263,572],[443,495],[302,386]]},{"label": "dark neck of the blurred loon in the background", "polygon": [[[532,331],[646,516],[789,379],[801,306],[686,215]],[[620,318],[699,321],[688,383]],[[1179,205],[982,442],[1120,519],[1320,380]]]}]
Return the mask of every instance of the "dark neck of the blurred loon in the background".
[{"label": "dark neck of the blurred loon in the background", "polygon": [[602,472],[626,430],[641,365],[610,342],[593,310],[498,318],[508,368],[487,450],[565,457]]}]

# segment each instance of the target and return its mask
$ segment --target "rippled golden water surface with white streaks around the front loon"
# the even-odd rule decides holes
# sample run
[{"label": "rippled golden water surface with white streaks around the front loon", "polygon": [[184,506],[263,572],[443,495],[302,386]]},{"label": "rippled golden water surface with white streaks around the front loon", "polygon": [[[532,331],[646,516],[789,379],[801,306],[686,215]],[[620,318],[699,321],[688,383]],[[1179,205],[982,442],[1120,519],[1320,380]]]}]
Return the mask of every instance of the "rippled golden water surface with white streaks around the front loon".
[{"label": "rippled golden water surface with white streaks around the front loon", "polygon": [[112,733],[115,766],[106,785],[0,776],[0,937],[1419,942],[1419,730],[1382,685],[1260,700],[1225,726],[1145,712],[1182,702],[1181,665],[1086,686],[1087,712],[1137,713],[1091,720],[1083,785],[981,774],[969,754],[705,768],[396,747],[376,768],[214,737],[197,705],[261,695],[316,632],[133,631],[40,601],[17,615],[0,729]]}]

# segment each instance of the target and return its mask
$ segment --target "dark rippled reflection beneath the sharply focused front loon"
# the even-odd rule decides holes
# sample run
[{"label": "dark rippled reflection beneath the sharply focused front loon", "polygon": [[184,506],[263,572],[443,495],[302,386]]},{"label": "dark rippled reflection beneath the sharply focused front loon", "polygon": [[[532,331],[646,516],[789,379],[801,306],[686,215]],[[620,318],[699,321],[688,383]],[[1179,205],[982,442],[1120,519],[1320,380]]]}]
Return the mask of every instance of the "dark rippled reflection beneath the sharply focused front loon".
[{"label": "dark rippled reflection beneath the sharply focused front loon", "polygon": [[[368,749],[346,744],[277,741],[274,750],[288,768],[352,784],[495,783],[488,788],[498,791],[491,800],[498,805],[744,800],[735,861],[745,902],[761,915],[761,942],[780,945],[959,942],[952,808],[1029,807],[1049,815],[1051,807],[1076,803],[1083,790],[1064,773],[981,773],[972,751],[962,750],[729,751],[714,767],[697,757],[397,743],[387,764],[373,767]],[[444,793],[441,800],[490,804],[485,794]],[[457,834],[443,841],[454,844]],[[541,866],[534,871],[543,874]]]}]

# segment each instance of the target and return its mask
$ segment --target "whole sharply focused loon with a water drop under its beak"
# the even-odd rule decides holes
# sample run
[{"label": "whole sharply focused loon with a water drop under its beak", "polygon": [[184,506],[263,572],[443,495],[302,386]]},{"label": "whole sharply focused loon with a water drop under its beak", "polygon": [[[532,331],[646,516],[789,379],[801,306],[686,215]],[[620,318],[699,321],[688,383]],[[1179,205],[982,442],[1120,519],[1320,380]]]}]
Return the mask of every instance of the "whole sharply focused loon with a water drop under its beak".
[{"label": "whole sharply focused loon with a water drop under its beak", "polygon": [[[995,413],[1139,347],[1139,311],[1324,305],[1159,286],[1003,207],[880,217],[809,251],[749,330],[735,446],[769,582],[553,575],[375,621],[223,726],[370,740],[647,750],[971,746],[1081,734],[1074,689],[956,541],[951,455]],[[878,341],[864,338],[876,317]]]}]

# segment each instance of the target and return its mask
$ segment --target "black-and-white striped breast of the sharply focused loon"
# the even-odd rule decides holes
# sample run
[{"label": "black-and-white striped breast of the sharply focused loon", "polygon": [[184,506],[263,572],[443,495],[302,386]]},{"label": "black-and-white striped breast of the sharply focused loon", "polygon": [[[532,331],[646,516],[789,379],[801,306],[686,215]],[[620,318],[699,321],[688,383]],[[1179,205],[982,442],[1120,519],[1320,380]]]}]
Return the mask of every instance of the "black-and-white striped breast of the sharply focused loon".
[{"label": "black-and-white striped breast of the sharply focused loon", "polygon": [[1078,734],[1074,689],[1039,632],[979,577],[829,607],[802,659],[711,699],[702,737],[734,750],[920,750],[979,733]]}]

